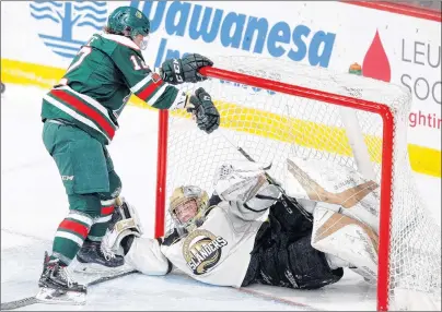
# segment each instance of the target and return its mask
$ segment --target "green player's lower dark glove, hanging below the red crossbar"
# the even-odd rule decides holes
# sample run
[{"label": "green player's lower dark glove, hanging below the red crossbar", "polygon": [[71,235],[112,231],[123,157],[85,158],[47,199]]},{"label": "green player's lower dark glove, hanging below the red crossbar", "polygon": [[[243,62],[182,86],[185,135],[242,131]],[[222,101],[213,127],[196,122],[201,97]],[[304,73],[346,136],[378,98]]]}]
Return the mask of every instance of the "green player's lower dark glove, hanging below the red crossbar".
[{"label": "green player's lower dark glove, hanging below the red crossbar", "polygon": [[220,127],[220,113],[210,95],[202,88],[195,91],[187,104],[187,111],[195,115],[198,128],[211,133]]}]

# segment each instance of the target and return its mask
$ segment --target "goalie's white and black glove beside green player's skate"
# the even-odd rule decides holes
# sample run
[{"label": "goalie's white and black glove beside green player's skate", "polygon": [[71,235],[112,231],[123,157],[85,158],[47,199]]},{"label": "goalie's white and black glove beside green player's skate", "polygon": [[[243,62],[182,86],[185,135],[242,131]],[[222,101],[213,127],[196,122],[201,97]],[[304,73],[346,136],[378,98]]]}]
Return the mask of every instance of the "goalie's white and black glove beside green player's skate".
[{"label": "goalie's white and black glove beside green player's skate", "polygon": [[112,216],[109,227],[102,240],[102,248],[118,255],[124,255],[121,241],[128,236],[141,237],[142,226],[137,211],[124,199],[117,199],[117,206]]}]

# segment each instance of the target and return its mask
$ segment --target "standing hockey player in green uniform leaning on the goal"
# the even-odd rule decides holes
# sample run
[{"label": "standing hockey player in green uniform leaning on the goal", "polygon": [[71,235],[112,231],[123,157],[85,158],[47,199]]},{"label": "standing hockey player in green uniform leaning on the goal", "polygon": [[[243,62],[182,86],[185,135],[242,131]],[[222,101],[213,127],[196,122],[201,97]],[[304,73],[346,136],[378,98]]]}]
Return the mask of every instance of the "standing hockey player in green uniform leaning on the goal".
[{"label": "standing hockey player in green uniform leaning on the goal", "polygon": [[[118,267],[121,256],[103,251],[105,235],[121,189],[106,145],[131,94],[159,109],[193,111],[197,125],[211,133],[220,116],[210,95],[198,88],[187,95],[174,85],[196,83],[212,62],[199,55],[166,60],[159,73],[143,60],[150,22],[139,10],[120,7],[111,13],[102,34],[78,52],[60,83],[44,96],[43,141],[57,164],[69,202],[51,254],[45,254],[40,298],[56,292],[85,293],[67,266],[77,256],[85,267]],[[96,268],[95,267],[95,268]]]}]

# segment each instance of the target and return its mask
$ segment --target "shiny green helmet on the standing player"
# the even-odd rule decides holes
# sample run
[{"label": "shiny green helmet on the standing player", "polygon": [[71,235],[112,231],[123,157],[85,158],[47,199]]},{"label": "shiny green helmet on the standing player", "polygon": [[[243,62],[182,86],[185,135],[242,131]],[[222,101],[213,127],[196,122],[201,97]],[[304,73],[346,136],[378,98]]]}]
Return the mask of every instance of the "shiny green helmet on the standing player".
[{"label": "shiny green helmet on the standing player", "polygon": [[[150,22],[140,10],[133,7],[119,7],[109,14],[106,31],[133,40],[138,35],[143,37],[149,35]],[[140,48],[146,49],[147,44],[146,38]]]}]

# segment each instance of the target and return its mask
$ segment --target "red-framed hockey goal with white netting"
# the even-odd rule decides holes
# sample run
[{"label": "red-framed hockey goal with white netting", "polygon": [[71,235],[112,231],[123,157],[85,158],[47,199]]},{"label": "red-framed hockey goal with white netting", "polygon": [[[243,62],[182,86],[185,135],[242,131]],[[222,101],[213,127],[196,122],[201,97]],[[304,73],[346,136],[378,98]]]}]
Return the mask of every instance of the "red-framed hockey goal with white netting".
[{"label": "red-framed hockey goal with white netting", "polygon": [[377,310],[440,309],[441,231],[416,192],[407,152],[410,94],[347,73],[254,57],[219,57],[202,86],[221,115],[207,134],[184,110],[160,111],[155,237],[173,227],[167,199],[183,184],[213,191],[214,170],[244,160],[323,159],[380,184]]}]

